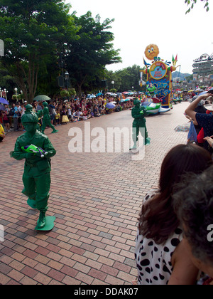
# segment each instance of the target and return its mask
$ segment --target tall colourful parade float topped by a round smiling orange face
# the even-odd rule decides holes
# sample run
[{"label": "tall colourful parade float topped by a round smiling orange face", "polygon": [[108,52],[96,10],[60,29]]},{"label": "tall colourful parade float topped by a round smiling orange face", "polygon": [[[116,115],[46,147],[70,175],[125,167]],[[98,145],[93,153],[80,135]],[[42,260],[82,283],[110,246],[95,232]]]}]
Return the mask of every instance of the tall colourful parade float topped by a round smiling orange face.
[{"label": "tall colourful parade float topped by a round smiling orange face", "polygon": [[159,55],[158,46],[151,44],[146,47],[145,56],[152,63],[143,58],[145,70],[141,70],[140,85],[143,85],[143,74],[147,75],[146,97],[142,105],[146,106],[149,114],[168,112],[172,108],[170,103],[172,94],[172,73],[176,70],[178,56],[170,61],[163,61]]}]

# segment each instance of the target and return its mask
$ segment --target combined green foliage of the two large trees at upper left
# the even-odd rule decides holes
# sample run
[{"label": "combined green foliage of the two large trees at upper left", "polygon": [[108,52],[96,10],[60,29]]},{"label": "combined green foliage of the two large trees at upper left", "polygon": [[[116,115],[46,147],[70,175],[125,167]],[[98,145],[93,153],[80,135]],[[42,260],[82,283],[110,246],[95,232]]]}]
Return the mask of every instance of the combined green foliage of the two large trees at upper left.
[{"label": "combined green foliage of the two large trees at upper left", "polygon": [[80,93],[99,87],[105,66],[121,62],[109,30],[114,20],[91,12],[78,18],[70,9],[63,0],[0,0],[1,65],[30,103],[35,94],[59,93],[65,69]]}]

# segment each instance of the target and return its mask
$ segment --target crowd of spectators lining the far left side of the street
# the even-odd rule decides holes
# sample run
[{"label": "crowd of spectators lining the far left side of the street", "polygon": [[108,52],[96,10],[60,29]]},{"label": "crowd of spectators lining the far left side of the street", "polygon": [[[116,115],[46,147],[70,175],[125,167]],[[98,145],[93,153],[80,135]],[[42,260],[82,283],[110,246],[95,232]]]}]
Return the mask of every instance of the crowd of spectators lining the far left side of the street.
[{"label": "crowd of spectators lining the far left side of the street", "polygon": [[[89,120],[92,117],[100,117],[112,112],[131,109],[133,107],[133,98],[122,102],[119,95],[112,97],[111,95],[90,95],[89,98],[72,97],[69,99],[56,98],[48,101],[50,118],[53,125],[65,125],[67,122],[77,122],[81,120]],[[113,103],[114,107],[107,107],[107,103]],[[13,103],[12,105],[4,105],[5,110],[0,111],[0,123],[4,126],[6,132],[24,130],[21,125],[21,117],[25,112],[25,106],[28,103]],[[33,112],[43,110],[42,102],[34,101]],[[42,122],[42,119],[40,120]]]}]

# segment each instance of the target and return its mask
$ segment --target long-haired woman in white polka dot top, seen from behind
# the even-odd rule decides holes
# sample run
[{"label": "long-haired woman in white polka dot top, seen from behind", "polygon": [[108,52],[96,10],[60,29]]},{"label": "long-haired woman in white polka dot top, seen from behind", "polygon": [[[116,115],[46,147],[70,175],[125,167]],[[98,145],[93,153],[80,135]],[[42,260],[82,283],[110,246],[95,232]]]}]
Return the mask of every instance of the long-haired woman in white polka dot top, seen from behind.
[{"label": "long-haired woman in white polka dot top, seen from behind", "polygon": [[182,229],[172,195],[182,174],[199,174],[210,164],[211,154],[193,144],[178,145],[165,156],[159,187],[143,199],[138,218],[135,251],[138,285],[196,283],[198,269],[182,246]]}]

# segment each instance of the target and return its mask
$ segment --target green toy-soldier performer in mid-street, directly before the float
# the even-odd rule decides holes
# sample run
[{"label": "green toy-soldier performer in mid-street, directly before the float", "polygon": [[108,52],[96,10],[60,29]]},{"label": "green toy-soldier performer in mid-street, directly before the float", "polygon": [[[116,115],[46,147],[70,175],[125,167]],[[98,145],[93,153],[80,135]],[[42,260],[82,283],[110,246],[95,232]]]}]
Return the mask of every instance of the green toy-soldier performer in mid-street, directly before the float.
[{"label": "green toy-soldier performer in mid-street, directly before the float", "polygon": [[131,110],[131,116],[134,119],[132,134],[134,144],[130,150],[134,150],[137,148],[138,135],[141,128],[144,128],[145,130],[145,135],[143,136],[145,140],[145,145],[148,145],[150,143],[150,138],[148,138],[148,132],[146,130],[146,108],[141,106],[141,100],[139,100],[138,98],[133,100],[133,105],[135,105],[135,107],[133,107]]}]

